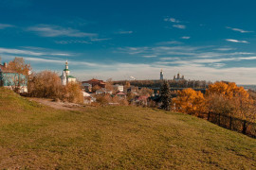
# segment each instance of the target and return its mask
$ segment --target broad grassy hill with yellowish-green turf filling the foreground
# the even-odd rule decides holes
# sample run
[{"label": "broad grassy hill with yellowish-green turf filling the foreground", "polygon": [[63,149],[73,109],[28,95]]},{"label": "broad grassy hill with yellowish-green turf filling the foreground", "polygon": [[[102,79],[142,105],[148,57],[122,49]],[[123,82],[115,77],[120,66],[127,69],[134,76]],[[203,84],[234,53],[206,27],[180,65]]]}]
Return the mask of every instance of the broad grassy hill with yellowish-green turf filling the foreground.
[{"label": "broad grassy hill with yellowish-green turf filling the foreground", "polygon": [[256,169],[256,140],[190,115],[54,110],[0,89],[0,169]]}]

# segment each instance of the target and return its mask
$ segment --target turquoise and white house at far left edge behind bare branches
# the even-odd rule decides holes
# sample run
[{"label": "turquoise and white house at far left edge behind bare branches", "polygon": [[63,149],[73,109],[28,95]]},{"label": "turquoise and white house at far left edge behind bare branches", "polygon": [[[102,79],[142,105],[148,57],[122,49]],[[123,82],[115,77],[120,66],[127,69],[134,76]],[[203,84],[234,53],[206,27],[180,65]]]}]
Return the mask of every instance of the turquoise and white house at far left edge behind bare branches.
[{"label": "turquoise and white house at far left edge behind bare branches", "polygon": [[5,62],[3,65],[0,64],[0,86],[19,93],[27,93],[27,76],[10,70]]}]

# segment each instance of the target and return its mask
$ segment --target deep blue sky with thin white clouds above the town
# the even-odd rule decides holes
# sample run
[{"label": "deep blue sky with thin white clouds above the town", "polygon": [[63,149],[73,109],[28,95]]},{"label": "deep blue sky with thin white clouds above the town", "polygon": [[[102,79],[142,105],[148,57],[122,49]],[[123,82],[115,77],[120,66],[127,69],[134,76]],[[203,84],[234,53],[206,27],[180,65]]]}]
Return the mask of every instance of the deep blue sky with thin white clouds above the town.
[{"label": "deep blue sky with thin white clouds above the town", "polygon": [[1,0],[2,62],[73,76],[256,84],[253,0]]}]

